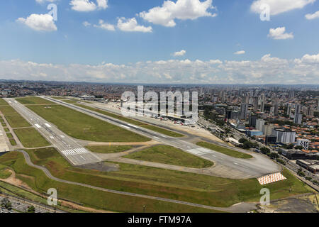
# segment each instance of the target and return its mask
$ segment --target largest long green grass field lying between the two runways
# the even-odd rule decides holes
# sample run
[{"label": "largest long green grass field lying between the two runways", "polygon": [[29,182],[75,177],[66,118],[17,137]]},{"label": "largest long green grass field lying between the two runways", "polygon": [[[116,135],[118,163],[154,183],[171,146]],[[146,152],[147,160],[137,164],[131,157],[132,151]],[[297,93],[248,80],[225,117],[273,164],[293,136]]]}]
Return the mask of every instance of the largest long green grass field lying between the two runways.
[{"label": "largest long green grass field lying between the two runways", "polygon": [[60,130],[68,135],[96,142],[145,142],[150,138],[132,133],[124,128],[114,126],[92,116],[80,113],[65,106],[53,105],[28,106],[28,108],[47,121],[54,123]]}]

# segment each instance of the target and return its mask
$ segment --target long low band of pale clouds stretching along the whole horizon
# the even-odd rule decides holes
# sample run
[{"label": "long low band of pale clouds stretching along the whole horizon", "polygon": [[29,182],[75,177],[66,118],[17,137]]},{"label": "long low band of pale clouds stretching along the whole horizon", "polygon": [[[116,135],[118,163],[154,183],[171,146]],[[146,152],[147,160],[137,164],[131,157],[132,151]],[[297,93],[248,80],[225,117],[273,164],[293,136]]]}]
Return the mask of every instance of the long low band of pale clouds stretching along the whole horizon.
[{"label": "long low band of pale clouds stretching along the whole horizon", "polygon": [[1,60],[1,79],[77,82],[318,84],[319,54],[287,60],[267,54],[255,61],[159,60],[115,65],[53,65]]}]

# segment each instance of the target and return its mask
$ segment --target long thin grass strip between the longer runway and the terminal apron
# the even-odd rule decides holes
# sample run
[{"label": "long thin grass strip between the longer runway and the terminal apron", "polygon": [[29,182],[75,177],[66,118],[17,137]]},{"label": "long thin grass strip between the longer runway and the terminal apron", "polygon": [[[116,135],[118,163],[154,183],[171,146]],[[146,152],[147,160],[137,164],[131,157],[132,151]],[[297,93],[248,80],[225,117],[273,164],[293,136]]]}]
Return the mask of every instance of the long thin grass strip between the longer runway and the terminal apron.
[{"label": "long thin grass strip between the longer runway and the terminal apron", "polygon": [[135,126],[140,126],[142,128],[147,128],[147,129],[150,129],[150,130],[155,131],[157,133],[162,133],[164,135],[168,135],[168,136],[172,136],[172,137],[183,137],[184,136],[184,135],[181,135],[179,133],[174,133],[173,131],[169,131],[169,130],[164,129],[164,128],[151,126],[151,125],[149,125],[147,123],[142,123],[141,121],[135,121],[135,120],[130,119],[130,118],[125,118],[124,116],[120,116],[120,115],[117,115],[117,114],[112,114],[112,113],[110,113],[108,111],[102,111],[100,109],[92,108],[92,107],[81,105],[81,104],[77,104],[77,106],[80,106],[80,107],[85,108],[85,109],[89,109],[91,111],[96,111],[96,112],[99,112],[100,114],[104,114],[106,116],[111,116],[112,118],[116,118],[118,120],[125,121],[127,123],[132,123]]}]

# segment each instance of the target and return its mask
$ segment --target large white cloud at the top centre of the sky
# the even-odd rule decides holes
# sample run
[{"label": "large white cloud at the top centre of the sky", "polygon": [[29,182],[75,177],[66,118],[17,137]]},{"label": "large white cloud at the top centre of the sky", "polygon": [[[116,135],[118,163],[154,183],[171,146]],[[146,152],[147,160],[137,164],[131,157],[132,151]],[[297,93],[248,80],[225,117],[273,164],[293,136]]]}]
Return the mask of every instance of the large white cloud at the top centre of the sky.
[{"label": "large white cloud at the top centre of the sky", "polygon": [[217,16],[216,13],[211,13],[208,10],[215,9],[213,0],[177,0],[164,1],[162,7],[155,7],[149,11],[140,13],[140,17],[150,23],[159,24],[167,27],[176,26],[175,19],[179,20],[194,20],[203,16]]}]

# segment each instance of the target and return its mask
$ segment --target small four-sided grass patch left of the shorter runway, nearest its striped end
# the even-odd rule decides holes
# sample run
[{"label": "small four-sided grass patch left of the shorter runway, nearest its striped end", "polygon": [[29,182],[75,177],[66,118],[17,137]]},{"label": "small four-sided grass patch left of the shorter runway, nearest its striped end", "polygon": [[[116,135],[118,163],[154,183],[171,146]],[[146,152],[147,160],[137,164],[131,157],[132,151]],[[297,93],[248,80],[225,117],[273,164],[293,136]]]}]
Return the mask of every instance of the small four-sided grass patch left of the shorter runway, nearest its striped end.
[{"label": "small four-sided grass patch left of the shorter runway, nearest its striped end", "polygon": [[35,128],[17,128],[13,131],[25,148],[40,148],[50,145]]}]

